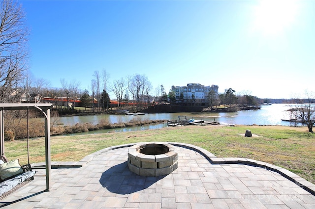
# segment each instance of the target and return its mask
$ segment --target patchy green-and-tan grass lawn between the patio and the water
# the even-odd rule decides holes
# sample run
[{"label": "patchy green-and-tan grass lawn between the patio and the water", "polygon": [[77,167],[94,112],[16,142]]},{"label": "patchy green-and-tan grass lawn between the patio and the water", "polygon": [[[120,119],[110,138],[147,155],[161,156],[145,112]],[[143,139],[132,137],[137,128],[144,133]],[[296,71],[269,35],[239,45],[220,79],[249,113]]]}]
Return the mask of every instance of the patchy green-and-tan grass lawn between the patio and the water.
[{"label": "patchy green-and-tan grass lawn between the patio and the water", "polygon": [[[244,137],[249,129],[253,137]],[[306,127],[286,126],[185,126],[159,130],[52,136],[52,161],[77,161],[113,145],[169,141],[202,147],[217,157],[247,157],[284,167],[315,183],[315,134]],[[6,141],[5,155],[27,162],[27,141]],[[45,161],[44,138],[31,139],[30,162]]]}]

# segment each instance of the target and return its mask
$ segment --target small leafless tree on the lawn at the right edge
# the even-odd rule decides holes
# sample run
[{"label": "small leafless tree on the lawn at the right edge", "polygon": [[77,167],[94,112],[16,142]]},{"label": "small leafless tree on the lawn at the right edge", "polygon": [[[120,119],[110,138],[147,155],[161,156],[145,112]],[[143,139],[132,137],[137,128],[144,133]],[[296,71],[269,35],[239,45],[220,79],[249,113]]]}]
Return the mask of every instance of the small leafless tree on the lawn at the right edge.
[{"label": "small leafless tree on the lawn at the right edge", "polygon": [[309,92],[305,93],[306,98],[295,98],[292,100],[294,105],[291,105],[291,112],[294,112],[295,120],[307,125],[309,132],[313,133],[315,124],[315,99]]}]

